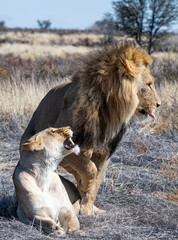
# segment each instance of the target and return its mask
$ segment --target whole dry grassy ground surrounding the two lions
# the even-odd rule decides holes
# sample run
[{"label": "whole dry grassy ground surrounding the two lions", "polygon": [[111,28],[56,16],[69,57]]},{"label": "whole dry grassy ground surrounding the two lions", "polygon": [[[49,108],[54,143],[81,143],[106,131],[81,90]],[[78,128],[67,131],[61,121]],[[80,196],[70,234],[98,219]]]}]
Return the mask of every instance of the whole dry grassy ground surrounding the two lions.
[{"label": "whole dry grassy ground surrounding the two lions", "polygon": [[[39,102],[53,86],[70,79],[75,59],[101,47],[103,38],[102,34],[87,32],[1,32],[2,197],[7,199],[13,193],[11,176],[19,158],[20,137]],[[162,101],[157,119],[132,123],[111,159],[96,200],[107,214],[81,216],[86,237],[74,234],[64,239],[176,239],[178,52],[154,52],[152,57],[151,70]],[[40,235],[17,220],[1,220],[2,239],[56,239]],[[25,232],[30,232],[30,238]]]}]

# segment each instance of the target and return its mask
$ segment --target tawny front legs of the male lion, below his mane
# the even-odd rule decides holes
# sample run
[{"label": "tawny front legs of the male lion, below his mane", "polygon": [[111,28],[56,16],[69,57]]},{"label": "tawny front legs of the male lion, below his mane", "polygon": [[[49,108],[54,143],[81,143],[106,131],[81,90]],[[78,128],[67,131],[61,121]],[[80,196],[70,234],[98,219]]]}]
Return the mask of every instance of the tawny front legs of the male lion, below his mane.
[{"label": "tawny front legs of the male lion, below his mane", "polygon": [[92,160],[83,154],[70,155],[65,157],[61,164],[67,171],[74,174],[82,196],[80,213],[87,215],[104,212],[94,206],[94,201],[109,163],[109,159],[102,161],[103,159],[98,156]]}]

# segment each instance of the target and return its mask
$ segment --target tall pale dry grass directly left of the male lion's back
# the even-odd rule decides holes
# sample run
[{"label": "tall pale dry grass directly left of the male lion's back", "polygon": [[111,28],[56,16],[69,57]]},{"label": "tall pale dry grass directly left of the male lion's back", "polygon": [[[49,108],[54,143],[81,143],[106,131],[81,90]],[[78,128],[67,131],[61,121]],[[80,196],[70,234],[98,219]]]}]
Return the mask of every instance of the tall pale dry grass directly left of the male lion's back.
[{"label": "tall pale dry grass directly left of the male lion's back", "polygon": [[18,73],[1,81],[1,137],[7,136],[7,131],[12,131],[13,134],[23,131],[41,99],[59,82],[35,81],[33,75],[31,81],[26,81]]}]

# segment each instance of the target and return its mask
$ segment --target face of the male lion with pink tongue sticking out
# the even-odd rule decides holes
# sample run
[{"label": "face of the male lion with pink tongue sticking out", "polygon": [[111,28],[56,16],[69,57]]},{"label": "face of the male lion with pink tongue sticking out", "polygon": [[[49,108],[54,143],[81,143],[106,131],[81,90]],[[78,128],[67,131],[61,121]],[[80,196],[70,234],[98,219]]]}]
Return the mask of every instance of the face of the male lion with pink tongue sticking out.
[{"label": "face of the male lion with pink tongue sticking out", "polygon": [[140,115],[149,115],[152,118],[155,118],[155,110],[160,106],[161,102],[157,95],[154,78],[150,73],[148,68],[144,68],[141,73],[141,85],[138,88],[137,96],[139,99],[139,104],[136,108],[135,114]]}]

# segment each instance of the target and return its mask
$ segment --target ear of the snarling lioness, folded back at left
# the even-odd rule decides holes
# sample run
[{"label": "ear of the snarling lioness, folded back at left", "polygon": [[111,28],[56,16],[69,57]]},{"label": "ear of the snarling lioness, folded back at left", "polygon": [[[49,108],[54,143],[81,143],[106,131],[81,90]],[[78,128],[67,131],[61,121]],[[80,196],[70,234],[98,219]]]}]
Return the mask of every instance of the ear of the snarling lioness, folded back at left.
[{"label": "ear of the snarling lioness, folded back at left", "polygon": [[40,151],[43,149],[43,139],[41,136],[31,138],[29,141],[22,144],[22,148],[27,151]]}]

